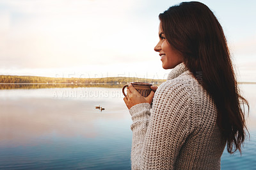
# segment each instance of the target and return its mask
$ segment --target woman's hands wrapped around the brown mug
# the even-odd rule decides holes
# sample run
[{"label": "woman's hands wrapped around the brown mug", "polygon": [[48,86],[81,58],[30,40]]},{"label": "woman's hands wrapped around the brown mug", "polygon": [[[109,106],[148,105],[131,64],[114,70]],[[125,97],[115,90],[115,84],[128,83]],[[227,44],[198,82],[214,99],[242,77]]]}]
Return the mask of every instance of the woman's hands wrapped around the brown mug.
[{"label": "woman's hands wrapped around the brown mug", "polygon": [[124,97],[124,102],[128,109],[131,109],[132,106],[136,104],[148,103],[151,104],[152,99],[154,97],[154,92],[156,91],[156,86],[151,86],[152,91],[148,95],[148,97],[143,97],[141,94],[129,83],[127,88],[127,97]]}]

